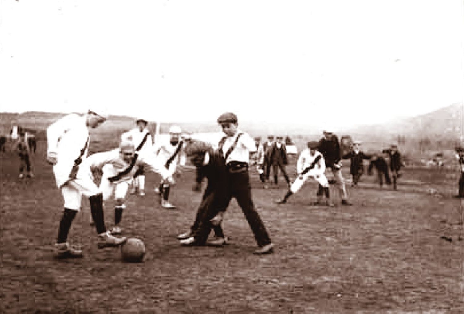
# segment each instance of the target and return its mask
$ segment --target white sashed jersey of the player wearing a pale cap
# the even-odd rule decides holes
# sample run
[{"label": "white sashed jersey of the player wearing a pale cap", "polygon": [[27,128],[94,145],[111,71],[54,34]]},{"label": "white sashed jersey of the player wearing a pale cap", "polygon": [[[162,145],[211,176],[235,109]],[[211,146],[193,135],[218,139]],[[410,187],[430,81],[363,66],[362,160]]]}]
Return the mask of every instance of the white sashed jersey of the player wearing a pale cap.
[{"label": "white sashed jersey of the player wearing a pale cap", "polygon": [[[179,148],[179,145],[182,146]],[[155,142],[155,145],[153,146],[153,151],[158,162],[162,165],[166,165],[166,162],[178,150],[177,154],[174,156],[174,159],[169,163],[168,166],[168,171],[172,175],[175,171],[177,163],[179,163],[180,166],[185,166],[187,162],[185,146],[186,144],[184,143],[184,141],[179,141],[177,144],[172,145],[169,138],[160,138]]]}]

